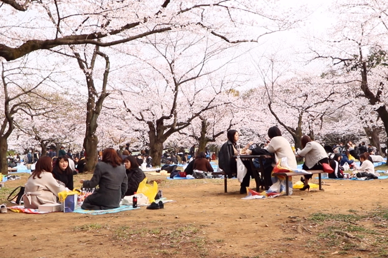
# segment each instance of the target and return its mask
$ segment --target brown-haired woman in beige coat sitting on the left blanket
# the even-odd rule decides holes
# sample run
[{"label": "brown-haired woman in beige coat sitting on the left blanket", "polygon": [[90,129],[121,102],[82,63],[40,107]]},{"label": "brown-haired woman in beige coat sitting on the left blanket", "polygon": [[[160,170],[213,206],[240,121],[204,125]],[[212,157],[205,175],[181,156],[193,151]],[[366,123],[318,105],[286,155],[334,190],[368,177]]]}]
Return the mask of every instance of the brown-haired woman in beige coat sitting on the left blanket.
[{"label": "brown-haired woman in beige coat sitting on the left blanket", "polygon": [[66,188],[59,185],[51,174],[52,162],[48,156],[38,159],[35,170],[25,184],[22,200],[24,208],[38,209],[41,204],[56,204],[58,193]]}]

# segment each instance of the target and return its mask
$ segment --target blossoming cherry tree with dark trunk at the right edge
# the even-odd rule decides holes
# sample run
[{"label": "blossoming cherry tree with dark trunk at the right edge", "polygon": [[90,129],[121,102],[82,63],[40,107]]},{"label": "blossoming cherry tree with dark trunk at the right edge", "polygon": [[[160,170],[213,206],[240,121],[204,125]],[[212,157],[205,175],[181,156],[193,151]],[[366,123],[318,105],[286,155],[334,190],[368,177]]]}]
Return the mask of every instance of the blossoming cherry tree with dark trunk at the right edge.
[{"label": "blossoming cherry tree with dark trunk at the right edge", "polygon": [[[386,3],[377,1],[339,1],[333,8],[338,23],[329,32],[331,40],[316,40],[310,47],[314,59],[331,61],[328,76],[356,92],[357,109],[370,142],[379,146],[379,121],[388,133],[387,92],[384,89],[388,16]],[[362,99],[365,99],[363,101]]]}]

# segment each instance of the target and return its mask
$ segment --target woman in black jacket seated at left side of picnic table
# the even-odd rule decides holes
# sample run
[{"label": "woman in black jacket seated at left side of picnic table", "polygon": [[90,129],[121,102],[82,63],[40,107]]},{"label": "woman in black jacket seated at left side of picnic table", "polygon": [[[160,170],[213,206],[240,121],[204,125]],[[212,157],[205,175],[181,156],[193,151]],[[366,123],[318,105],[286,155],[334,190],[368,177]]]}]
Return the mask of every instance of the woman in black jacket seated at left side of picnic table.
[{"label": "woman in black jacket seated at left side of picnic table", "polygon": [[[221,146],[220,152],[218,153],[218,165],[225,171],[228,178],[232,178],[233,175],[237,174],[237,160],[234,158],[234,155],[238,155],[237,141],[238,141],[238,132],[236,130],[229,130],[227,132],[228,140]],[[247,149],[250,145],[245,146]],[[249,187],[250,177],[253,175],[252,168],[250,167],[249,160],[242,160],[245,167],[247,168],[247,173],[243,178],[240,185],[240,194],[246,194],[246,188]]]}]

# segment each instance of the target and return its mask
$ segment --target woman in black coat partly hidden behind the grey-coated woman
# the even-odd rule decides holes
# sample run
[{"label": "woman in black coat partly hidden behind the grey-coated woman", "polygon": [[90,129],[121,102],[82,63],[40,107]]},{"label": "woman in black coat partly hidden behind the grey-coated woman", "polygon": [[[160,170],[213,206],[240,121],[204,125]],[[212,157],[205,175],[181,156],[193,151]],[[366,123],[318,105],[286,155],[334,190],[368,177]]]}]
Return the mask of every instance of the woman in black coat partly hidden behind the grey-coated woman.
[{"label": "woman in black coat partly hidden behind the grey-coated woman", "polygon": [[140,182],[146,178],[146,175],[144,175],[143,170],[139,167],[137,158],[134,156],[126,156],[124,158],[124,166],[128,178],[128,189],[125,196],[134,195],[138,191]]}]

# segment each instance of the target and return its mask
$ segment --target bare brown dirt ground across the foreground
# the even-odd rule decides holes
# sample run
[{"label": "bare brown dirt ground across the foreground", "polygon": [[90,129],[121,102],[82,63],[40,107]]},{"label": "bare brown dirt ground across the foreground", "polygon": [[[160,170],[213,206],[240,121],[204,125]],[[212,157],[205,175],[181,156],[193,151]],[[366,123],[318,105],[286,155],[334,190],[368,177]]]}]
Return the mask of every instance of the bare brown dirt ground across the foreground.
[{"label": "bare brown dirt ground across the foreground", "polygon": [[[2,203],[7,193],[26,182],[29,175],[21,175],[21,180],[6,182],[6,187],[0,190]],[[90,177],[76,176],[75,181]],[[336,217],[344,214],[341,216],[352,219],[354,217],[346,216],[384,210],[388,207],[385,198],[388,180],[326,180],[325,191],[294,190],[294,195],[289,197],[241,200],[243,196],[238,193],[237,180],[228,181],[229,193],[224,194],[223,180],[168,181],[165,176],[148,178],[163,180],[159,189],[163,190],[165,197],[176,202],[165,204],[161,210],[142,207],[106,215],[33,215],[11,211],[0,214],[0,257],[280,258],[388,255],[378,248],[378,242],[374,243],[374,247],[360,247],[364,241],[361,238],[377,234],[382,237],[381,246],[388,242],[384,238],[388,236],[385,219],[376,222],[363,216],[363,219],[355,222]],[[293,180],[295,182],[297,179]],[[312,182],[317,183],[317,180]],[[320,213],[331,214],[332,217],[319,217]],[[328,232],[329,224],[337,225],[341,221],[355,223],[362,230],[369,231],[364,232],[366,235],[358,236],[352,233],[349,238],[360,241],[353,245],[348,244],[346,237],[334,236],[332,232],[322,234]],[[338,242],[330,244],[327,237],[332,237],[332,240],[334,237],[334,241]]]}]

